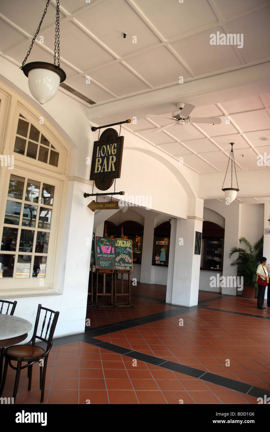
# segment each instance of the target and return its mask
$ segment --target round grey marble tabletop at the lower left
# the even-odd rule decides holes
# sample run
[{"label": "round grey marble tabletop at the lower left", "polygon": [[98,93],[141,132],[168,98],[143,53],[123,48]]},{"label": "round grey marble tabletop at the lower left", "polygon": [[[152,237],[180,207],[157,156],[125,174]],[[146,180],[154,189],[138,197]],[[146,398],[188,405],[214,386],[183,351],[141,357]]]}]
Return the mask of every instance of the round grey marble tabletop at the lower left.
[{"label": "round grey marble tabletop at the lower left", "polygon": [[22,342],[31,328],[32,324],[23,318],[0,314],[0,348]]}]

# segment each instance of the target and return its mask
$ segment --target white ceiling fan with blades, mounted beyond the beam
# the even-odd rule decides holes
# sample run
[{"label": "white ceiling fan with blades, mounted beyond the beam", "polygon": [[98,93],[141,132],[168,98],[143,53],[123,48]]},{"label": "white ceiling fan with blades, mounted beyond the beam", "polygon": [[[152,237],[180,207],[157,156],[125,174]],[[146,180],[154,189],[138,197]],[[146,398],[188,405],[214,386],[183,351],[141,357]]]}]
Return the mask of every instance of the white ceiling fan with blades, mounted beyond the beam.
[{"label": "white ceiling fan with blades, mounted beyond the beam", "polygon": [[209,123],[209,124],[220,124],[221,118],[215,117],[189,117],[189,114],[195,108],[195,105],[192,104],[177,104],[177,111],[173,111],[172,117],[166,117],[164,115],[157,114],[146,114],[144,117],[162,117],[167,118],[169,120],[174,120],[173,123],[166,124],[166,126],[158,127],[156,130],[153,130],[152,133],[160,132],[161,130],[167,129],[168,127],[174,126],[175,124],[179,124],[184,126],[186,123]]}]

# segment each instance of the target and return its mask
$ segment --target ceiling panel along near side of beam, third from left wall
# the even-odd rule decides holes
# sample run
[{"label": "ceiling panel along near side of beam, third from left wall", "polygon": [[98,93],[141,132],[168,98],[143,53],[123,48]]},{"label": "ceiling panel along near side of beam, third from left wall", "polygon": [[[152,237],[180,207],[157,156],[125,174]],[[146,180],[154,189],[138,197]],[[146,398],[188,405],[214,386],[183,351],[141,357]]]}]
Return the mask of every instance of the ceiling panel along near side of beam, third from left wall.
[{"label": "ceiling panel along near side of beam, third from left wall", "polygon": [[190,74],[166,47],[154,48],[125,60],[152,86],[179,82],[179,76],[189,78]]}]

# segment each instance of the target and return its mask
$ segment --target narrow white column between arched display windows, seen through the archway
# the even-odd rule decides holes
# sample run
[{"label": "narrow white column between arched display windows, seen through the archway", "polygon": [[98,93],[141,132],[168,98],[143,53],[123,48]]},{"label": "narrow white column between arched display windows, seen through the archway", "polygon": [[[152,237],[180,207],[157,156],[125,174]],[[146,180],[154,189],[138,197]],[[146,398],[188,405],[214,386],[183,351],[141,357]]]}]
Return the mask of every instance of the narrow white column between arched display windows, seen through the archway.
[{"label": "narrow white column between arched display windows, seen through the archway", "polygon": [[144,238],[141,254],[141,283],[153,284],[155,279],[155,266],[152,266],[155,219],[153,213],[146,212],[144,217]]}]

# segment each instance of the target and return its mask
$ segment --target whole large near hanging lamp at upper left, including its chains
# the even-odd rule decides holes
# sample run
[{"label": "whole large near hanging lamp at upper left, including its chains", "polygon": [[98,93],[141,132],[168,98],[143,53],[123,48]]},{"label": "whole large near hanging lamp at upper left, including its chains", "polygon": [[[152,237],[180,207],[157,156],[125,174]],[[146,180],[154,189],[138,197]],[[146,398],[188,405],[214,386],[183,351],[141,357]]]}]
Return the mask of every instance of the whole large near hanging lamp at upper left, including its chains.
[{"label": "whole large near hanging lamp at upper left, including its chains", "polygon": [[[35,39],[39,33],[42,21],[47,12],[47,7],[49,6],[50,0],[47,1],[46,7],[44,9],[41,21],[38,25],[38,29],[35,32],[35,36],[32,39],[29,50],[26,54],[25,59],[22,62],[22,69],[25,76],[28,77],[28,87],[32,96],[41,104],[50,101],[52,99],[60,86],[66,79],[66,73],[60,68],[60,50],[59,50],[59,0],[56,1],[56,21],[55,21],[55,41],[54,41],[54,63],[46,63],[44,61],[33,61],[31,63],[25,64]],[[56,65],[57,60],[57,65]]]}]

